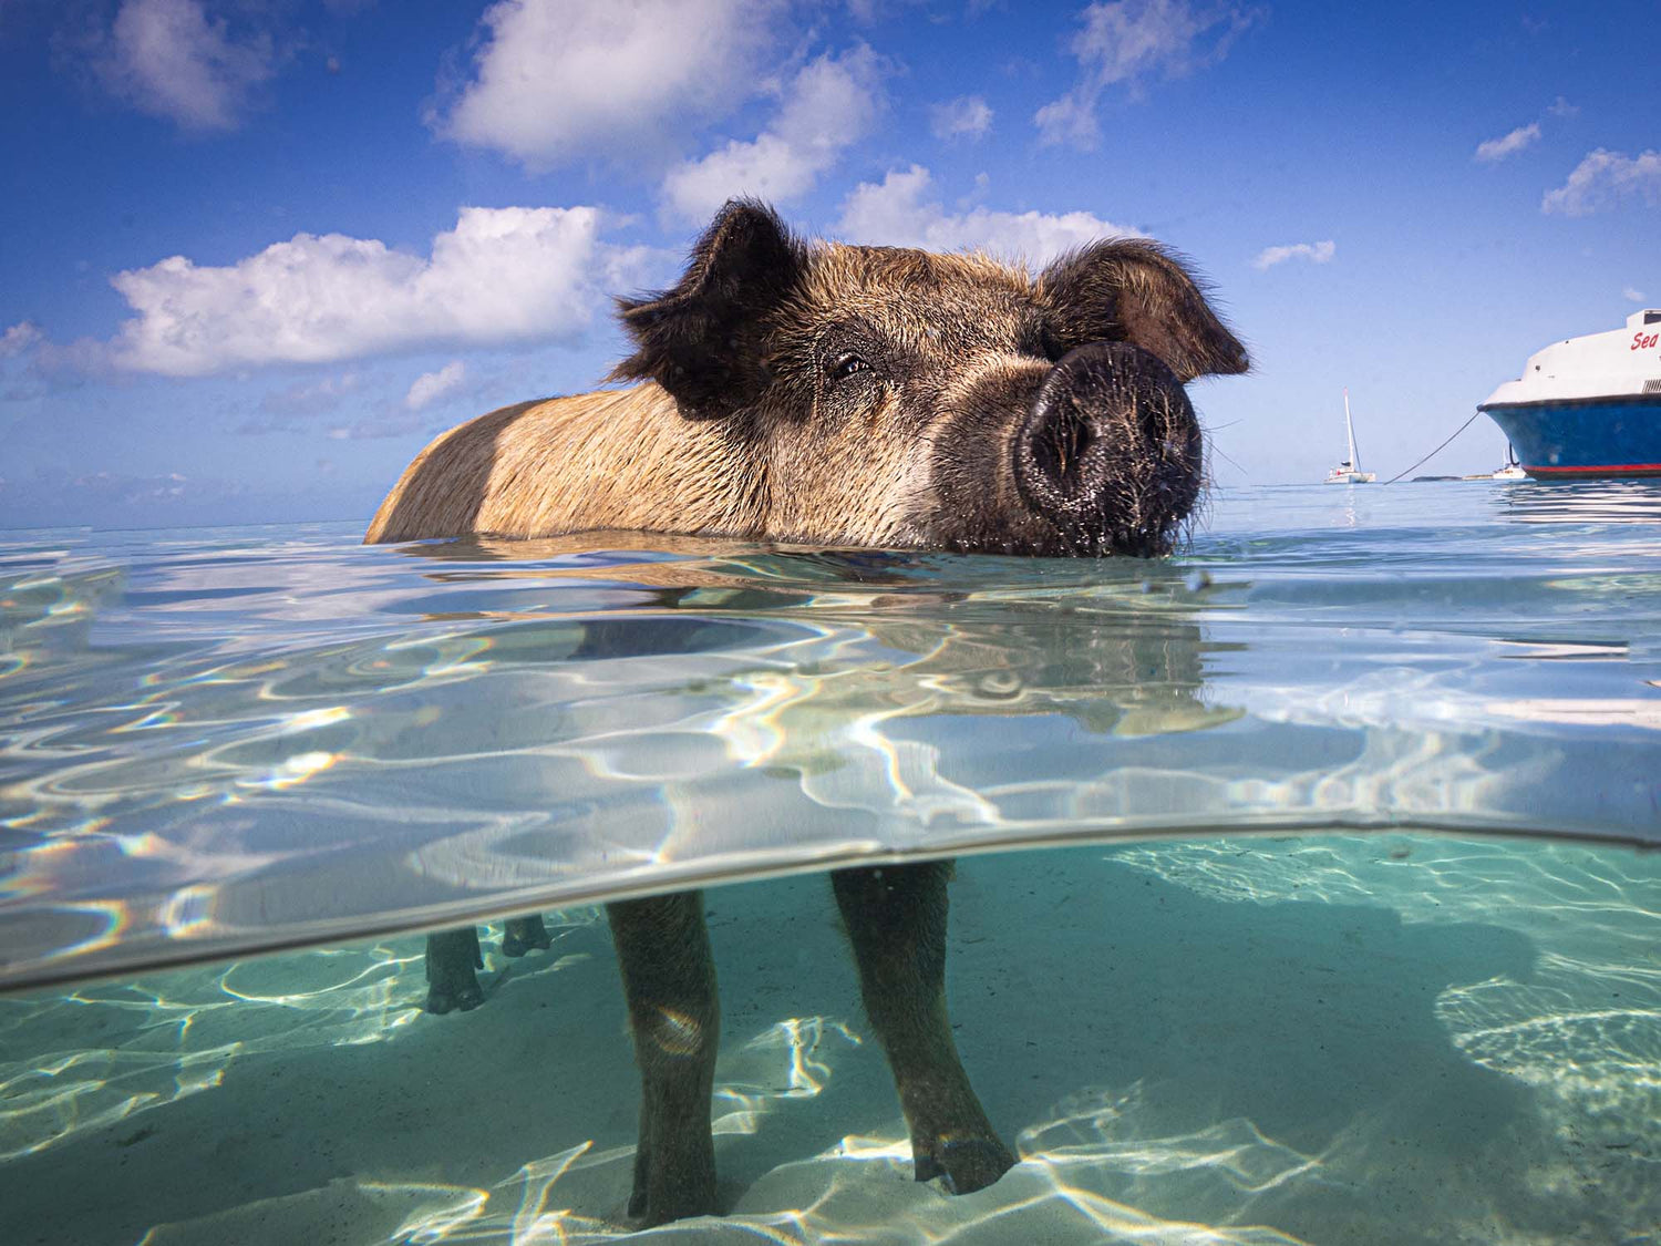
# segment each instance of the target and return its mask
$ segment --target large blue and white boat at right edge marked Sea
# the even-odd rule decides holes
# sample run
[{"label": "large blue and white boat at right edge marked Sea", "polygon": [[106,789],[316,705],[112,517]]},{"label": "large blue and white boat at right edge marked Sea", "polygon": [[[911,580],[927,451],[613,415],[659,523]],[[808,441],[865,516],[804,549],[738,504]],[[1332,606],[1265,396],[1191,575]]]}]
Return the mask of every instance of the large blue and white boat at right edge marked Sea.
[{"label": "large blue and white boat at right edge marked Sea", "polygon": [[1536,480],[1661,475],[1661,309],[1536,351],[1477,410]]}]

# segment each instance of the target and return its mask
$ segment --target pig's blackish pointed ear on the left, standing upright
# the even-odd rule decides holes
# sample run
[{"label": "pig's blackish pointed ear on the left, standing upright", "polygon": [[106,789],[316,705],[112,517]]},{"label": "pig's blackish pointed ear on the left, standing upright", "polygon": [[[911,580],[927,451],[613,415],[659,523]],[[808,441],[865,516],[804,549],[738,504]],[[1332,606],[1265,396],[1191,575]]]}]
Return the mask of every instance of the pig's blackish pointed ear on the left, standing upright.
[{"label": "pig's blackish pointed ear on the left, standing upright", "polygon": [[656,380],[691,419],[719,419],[767,385],[769,314],[801,281],[806,251],[766,204],[733,199],[693,248],[679,284],[618,299],[635,354],[613,380]]}]

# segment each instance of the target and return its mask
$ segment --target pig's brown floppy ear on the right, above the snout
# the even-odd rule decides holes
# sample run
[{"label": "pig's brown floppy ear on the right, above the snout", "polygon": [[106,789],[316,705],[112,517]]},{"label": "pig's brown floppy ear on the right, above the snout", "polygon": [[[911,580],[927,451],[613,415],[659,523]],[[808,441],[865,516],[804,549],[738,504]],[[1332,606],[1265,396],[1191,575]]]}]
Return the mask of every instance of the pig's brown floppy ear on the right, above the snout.
[{"label": "pig's brown floppy ear on the right, above the snout", "polygon": [[1046,267],[1038,296],[1066,349],[1131,342],[1183,380],[1247,367],[1246,347],[1211,311],[1199,282],[1158,243],[1091,243]]}]

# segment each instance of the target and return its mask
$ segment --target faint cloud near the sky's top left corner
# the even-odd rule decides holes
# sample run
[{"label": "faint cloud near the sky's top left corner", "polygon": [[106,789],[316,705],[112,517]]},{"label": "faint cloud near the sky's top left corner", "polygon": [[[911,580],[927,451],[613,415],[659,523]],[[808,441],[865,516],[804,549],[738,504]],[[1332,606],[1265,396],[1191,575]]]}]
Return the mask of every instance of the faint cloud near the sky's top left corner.
[{"label": "faint cloud near the sky's top left corner", "polygon": [[231,38],[198,0],[126,0],[93,68],[103,85],[186,130],[234,130],[274,70],[271,37]]}]

